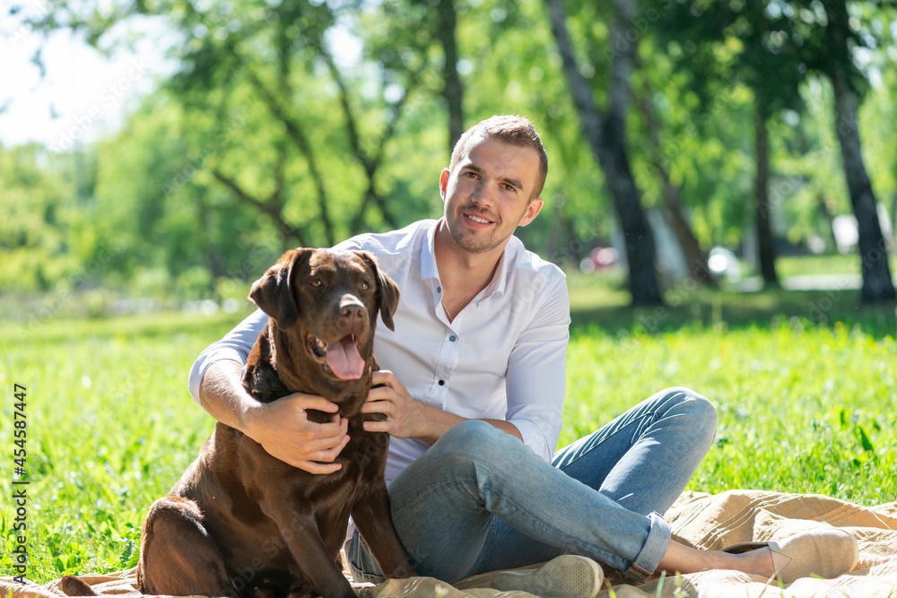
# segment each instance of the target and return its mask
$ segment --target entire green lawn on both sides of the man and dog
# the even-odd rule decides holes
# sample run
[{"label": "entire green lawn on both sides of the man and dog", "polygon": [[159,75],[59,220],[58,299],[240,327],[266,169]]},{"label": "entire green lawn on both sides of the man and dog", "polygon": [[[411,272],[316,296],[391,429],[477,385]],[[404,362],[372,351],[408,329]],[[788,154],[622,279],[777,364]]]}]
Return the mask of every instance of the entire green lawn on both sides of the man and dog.
[{"label": "entire green lawn on both sides of the man and dog", "polygon": [[[861,504],[897,496],[893,306],[858,308],[853,291],[689,289],[667,296],[664,310],[633,309],[613,281],[583,276],[570,277],[570,297],[563,444],[663,387],[691,386],[719,414],[692,489],[819,492]],[[146,508],[213,428],[187,392],[187,370],[240,316],[0,324],[7,495],[20,479],[14,385],[27,389],[31,579],[135,563]],[[2,575],[12,573],[15,516],[4,500]]]}]

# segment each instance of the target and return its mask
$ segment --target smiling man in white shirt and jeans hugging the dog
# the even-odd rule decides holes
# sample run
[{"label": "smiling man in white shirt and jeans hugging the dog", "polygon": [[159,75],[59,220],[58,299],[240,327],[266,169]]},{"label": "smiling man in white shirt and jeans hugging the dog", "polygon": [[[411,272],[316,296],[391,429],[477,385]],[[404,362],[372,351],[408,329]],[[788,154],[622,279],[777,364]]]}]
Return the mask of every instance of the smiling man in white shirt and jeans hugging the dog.
[{"label": "smiling man in white shirt and jeans hugging the dog", "polygon": [[[641,580],[658,569],[771,575],[768,550],[688,549],[671,541],[658,515],[714,438],[716,412],[700,395],[658,393],[552,455],[561,430],[567,287],[559,268],[512,236],[542,208],[546,174],[547,154],[526,118],[489,118],[466,131],[442,170],[442,219],[337,246],[374,253],[402,290],[396,331],[377,329],[384,370],[373,383],[384,386],[371,390],[363,411],[387,415],[366,427],[393,437],[393,519],[415,568],[453,582],[571,552]],[[293,394],[262,404],[241,386],[242,362],[265,323],[259,311],[204,351],[191,392],[271,455],[333,472],[348,441],[346,422],[305,417],[307,409],[335,412],[333,403]],[[358,533],[346,553],[356,580],[380,579]],[[588,577],[583,595],[601,584],[600,569],[561,573]],[[544,578],[518,581],[521,589],[544,589]]]}]

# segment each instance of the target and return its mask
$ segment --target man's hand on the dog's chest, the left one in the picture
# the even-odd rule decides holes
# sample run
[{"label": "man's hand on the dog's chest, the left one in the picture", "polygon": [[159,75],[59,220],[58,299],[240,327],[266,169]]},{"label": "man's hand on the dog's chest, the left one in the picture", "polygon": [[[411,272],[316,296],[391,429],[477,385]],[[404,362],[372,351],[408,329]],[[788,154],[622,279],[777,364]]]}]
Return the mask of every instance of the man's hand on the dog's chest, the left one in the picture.
[{"label": "man's hand on the dog's chest, the left one in the picture", "polygon": [[[306,410],[333,413],[327,423],[310,421]],[[274,403],[258,403],[243,431],[269,455],[309,473],[333,473],[333,463],[349,442],[349,420],[340,418],[339,407],[314,394],[290,394]]]}]

